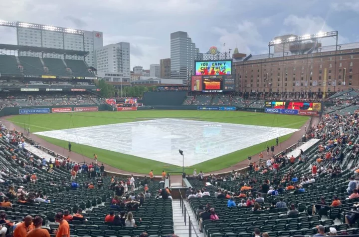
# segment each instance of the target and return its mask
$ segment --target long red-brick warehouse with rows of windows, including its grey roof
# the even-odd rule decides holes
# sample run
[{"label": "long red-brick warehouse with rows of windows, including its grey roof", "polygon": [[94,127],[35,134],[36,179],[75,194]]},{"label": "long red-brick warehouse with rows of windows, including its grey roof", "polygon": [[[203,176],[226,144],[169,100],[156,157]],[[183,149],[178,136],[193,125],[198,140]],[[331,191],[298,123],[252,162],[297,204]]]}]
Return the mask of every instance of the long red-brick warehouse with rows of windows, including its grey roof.
[{"label": "long red-brick warehouse with rows of windows, including its grey roof", "polygon": [[[234,54],[238,92],[335,92],[359,88],[359,43],[261,55]],[[309,53],[308,53],[309,52]]]}]

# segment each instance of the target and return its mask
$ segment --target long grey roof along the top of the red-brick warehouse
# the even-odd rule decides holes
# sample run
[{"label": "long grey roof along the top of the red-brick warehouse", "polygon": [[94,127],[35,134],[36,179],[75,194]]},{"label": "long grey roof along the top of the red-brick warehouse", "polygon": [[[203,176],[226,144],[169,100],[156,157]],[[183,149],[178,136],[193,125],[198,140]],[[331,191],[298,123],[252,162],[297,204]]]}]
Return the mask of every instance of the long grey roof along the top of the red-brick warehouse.
[{"label": "long grey roof along the top of the red-brick warehouse", "polygon": [[[355,48],[359,48],[359,42],[356,43],[345,43],[345,44],[339,44],[338,45],[338,50],[348,50],[348,49],[355,49]],[[318,47],[318,49],[315,49],[313,51],[310,52],[310,54],[312,53],[323,53],[323,52],[330,52],[330,51],[335,51],[336,49],[336,45],[329,45],[329,46],[322,46],[322,47]],[[310,49],[308,49],[307,51],[305,51],[304,53],[298,53],[298,52],[291,52],[291,51],[286,51],[285,52],[285,57],[288,56],[295,56],[295,55],[303,55],[308,53]],[[270,55],[270,58],[279,58],[279,57],[283,57],[283,52],[278,52],[278,53],[272,53]],[[243,62],[243,61],[253,61],[253,60],[261,60],[261,59],[267,59],[268,58],[268,53],[265,54],[258,54],[258,55],[253,55],[251,57],[249,57],[248,59],[246,59],[247,57],[242,57],[242,58],[233,58],[233,62]],[[244,60],[246,59],[246,60]]]}]

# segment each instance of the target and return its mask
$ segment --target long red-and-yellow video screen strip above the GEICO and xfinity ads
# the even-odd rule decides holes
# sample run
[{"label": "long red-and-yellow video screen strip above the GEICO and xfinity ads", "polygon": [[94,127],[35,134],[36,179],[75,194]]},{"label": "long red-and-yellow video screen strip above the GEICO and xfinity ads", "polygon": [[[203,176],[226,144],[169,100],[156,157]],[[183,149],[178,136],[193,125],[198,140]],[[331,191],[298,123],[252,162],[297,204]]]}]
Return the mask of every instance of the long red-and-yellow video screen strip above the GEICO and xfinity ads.
[{"label": "long red-and-yellow video screen strip above the GEICO and xfinity ads", "polygon": [[265,107],[274,109],[322,111],[322,103],[318,102],[270,101],[265,103]]}]

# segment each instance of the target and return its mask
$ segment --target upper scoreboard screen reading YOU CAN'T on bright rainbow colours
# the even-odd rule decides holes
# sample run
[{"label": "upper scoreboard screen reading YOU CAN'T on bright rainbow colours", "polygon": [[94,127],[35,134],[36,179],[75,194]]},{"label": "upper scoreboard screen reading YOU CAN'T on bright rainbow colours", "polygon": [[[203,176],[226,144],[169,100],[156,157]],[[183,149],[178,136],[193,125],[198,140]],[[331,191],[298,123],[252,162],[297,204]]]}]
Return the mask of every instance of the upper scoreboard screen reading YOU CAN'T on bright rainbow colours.
[{"label": "upper scoreboard screen reading YOU CAN'T on bright rainbow colours", "polygon": [[231,60],[196,61],[195,74],[196,75],[231,75],[232,61]]}]

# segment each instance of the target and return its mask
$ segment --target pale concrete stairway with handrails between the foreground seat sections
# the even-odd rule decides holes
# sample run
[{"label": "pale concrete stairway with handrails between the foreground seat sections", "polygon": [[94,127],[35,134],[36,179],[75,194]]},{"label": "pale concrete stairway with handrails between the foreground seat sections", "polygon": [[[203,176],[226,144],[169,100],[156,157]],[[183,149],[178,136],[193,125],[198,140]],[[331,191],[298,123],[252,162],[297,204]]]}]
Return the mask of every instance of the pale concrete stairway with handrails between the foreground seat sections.
[{"label": "pale concrete stairway with handrails between the foreground seat sections", "polygon": [[[184,201],[184,200],[183,200]],[[194,230],[198,234],[198,237],[204,237],[202,233],[199,232],[199,226],[197,224],[197,221],[195,220],[195,216],[190,209],[190,205],[187,201],[184,201],[184,205],[186,206],[186,223],[184,223],[184,216],[182,216],[182,209],[180,206],[179,200],[173,200],[172,201],[172,210],[173,210],[173,220],[174,220],[174,231],[177,236],[180,237],[189,237],[188,235],[188,228],[189,228],[189,222],[188,222],[188,216],[190,217],[190,220],[192,221]],[[195,236],[193,229],[192,229],[192,235]]]}]

